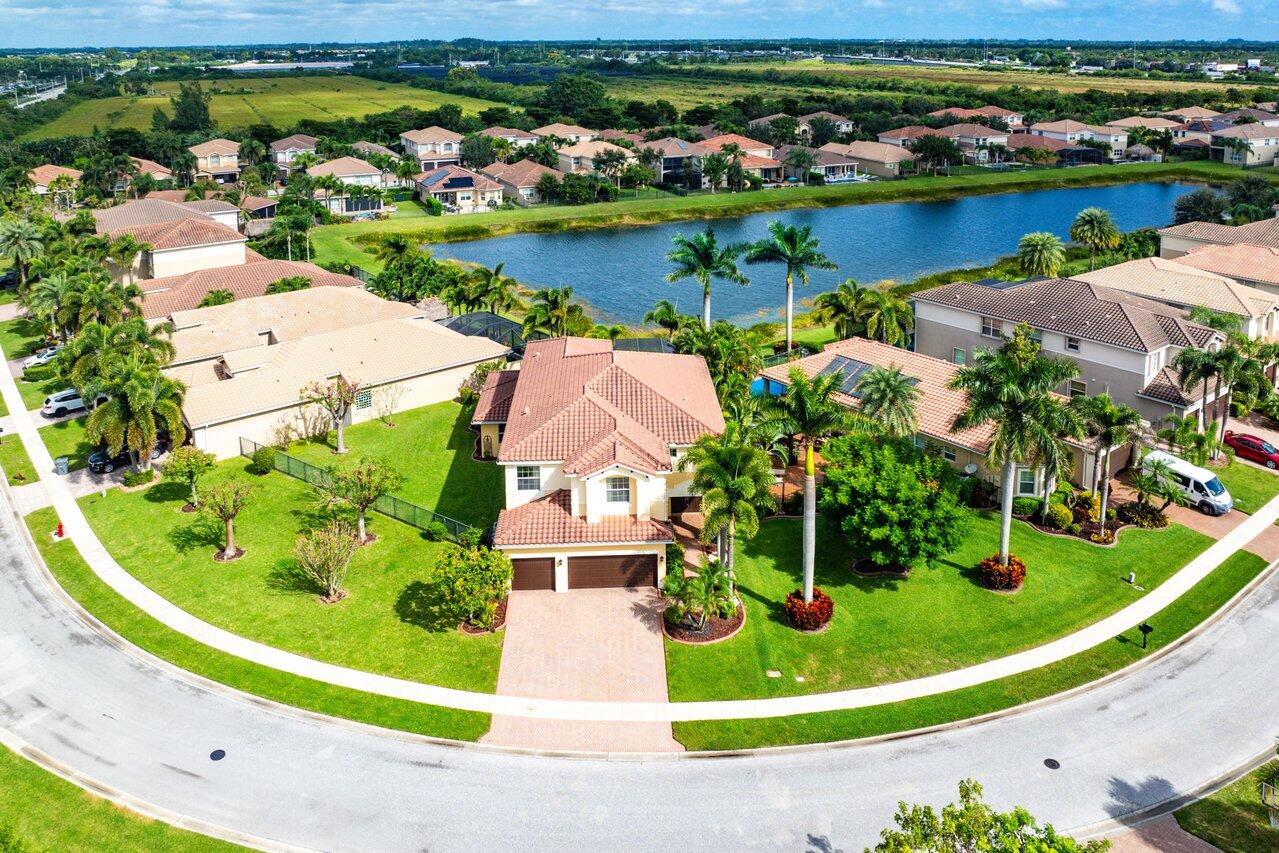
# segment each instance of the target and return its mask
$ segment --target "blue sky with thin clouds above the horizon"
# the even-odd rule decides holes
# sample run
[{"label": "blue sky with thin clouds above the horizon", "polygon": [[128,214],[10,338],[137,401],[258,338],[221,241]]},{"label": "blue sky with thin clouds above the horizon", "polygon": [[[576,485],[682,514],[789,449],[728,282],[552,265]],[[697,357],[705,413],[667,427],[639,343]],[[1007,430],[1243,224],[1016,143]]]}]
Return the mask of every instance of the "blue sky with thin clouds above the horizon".
[{"label": "blue sky with thin clouds above the horizon", "polygon": [[463,36],[1279,40],[1279,0],[0,0],[0,47]]}]

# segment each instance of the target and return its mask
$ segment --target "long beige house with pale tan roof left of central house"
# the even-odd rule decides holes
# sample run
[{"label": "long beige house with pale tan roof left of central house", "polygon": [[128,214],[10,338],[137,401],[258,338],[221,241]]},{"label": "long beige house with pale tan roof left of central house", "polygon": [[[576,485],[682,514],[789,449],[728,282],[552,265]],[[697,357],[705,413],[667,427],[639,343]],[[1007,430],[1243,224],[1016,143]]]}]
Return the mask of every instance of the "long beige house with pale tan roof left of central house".
[{"label": "long beige house with pale tan roof left of central house", "polygon": [[450,400],[476,364],[509,352],[356,286],[180,311],[173,322],[178,358],[165,372],[187,385],[182,412],[192,442],[219,459],[239,455],[242,439],[274,444],[284,434],[313,435],[317,422],[327,430],[326,418],[299,402],[311,382],[358,382],[347,422],[359,423],[380,403],[399,412]]}]

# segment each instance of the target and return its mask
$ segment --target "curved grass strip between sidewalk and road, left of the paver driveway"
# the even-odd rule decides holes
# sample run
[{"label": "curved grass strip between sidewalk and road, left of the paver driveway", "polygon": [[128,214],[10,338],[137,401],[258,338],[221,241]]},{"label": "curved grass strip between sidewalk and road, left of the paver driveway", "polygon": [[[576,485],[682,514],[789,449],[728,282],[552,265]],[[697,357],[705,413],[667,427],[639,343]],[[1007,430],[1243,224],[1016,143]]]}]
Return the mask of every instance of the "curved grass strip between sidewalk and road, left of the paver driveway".
[{"label": "curved grass strip between sidewalk and road, left of the paver driveway", "polygon": [[[56,523],[58,515],[52,509],[41,509],[27,517],[32,538],[58,583],[118,634],[170,664],[255,696],[388,729],[455,740],[476,740],[489,730],[487,714],[405,702],[289,675],[171,630],[102,583],[70,540],[55,542],[50,538],[49,531]],[[376,645],[370,638],[361,642]],[[0,798],[0,804],[3,802]]]}]

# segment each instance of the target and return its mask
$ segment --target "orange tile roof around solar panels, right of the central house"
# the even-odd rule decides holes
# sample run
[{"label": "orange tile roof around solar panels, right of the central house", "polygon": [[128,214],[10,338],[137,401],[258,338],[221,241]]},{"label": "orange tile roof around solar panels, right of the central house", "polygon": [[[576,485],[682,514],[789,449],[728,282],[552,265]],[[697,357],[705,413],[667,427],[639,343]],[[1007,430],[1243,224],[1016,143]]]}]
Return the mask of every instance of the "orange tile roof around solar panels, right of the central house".
[{"label": "orange tile roof around solar panels, right of the central house", "polygon": [[[895,366],[904,375],[918,380],[916,389],[920,391],[920,398],[916,403],[916,417],[920,422],[921,435],[961,448],[968,448],[976,453],[986,453],[989,449],[990,437],[995,431],[994,425],[982,425],[961,431],[950,428],[955,416],[964,411],[967,398],[963,391],[953,390],[948,385],[952,377],[959,371],[959,367],[940,358],[898,349],[897,347],[889,347],[876,340],[849,338],[848,340],[828,344],[824,350],[815,356],[769,367],[764,371],[762,376],[785,385],[789,381],[790,368],[797,367],[803,371],[804,376],[813,377],[840,356],[876,367]],[[849,408],[861,405],[861,402],[856,396],[842,393],[835,396]]]}]

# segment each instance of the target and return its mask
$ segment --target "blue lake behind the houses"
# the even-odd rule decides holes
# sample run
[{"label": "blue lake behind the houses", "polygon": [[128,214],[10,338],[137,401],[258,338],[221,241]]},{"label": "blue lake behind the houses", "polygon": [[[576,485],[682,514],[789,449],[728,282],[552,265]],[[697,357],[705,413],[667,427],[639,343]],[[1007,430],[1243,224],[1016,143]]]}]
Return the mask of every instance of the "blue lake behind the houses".
[{"label": "blue lake behind the houses", "polygon": [[[1117,166],[1122,168],[1122,166]],[[1027,231],[1053,231],[1067,239],[1074,215],[1085,207],[1109,210],[1120,230],[1164,226],[1173,202],[1193,184],[1143,183],[1081,189],[972,196],[936,202],[895,202],[774,211],[711,224],[721,243],[757,240],[769,223],[811,225],[821,248],[839,270],[813,271],[807,288],[796,286],[797,303],[833,290],[852,276],[862,284],[884,279],[912,281],[957,267],[984,266],[1012,254]],[[775,192],[785,192],[779,189]],[[586,229],[555,234],[515,234],[471,243],[432,246],[436,257],[494,266],[531,288],[572,285],[596,320],[638,324],[657,299],[701,313],[701,288],[665,280],[673,234],[691,234],[705,221],[631,228]],[[780,267],[744,267],[747,286],[715,281],[711,312],[738,322],[778,320],[785,302]]]}]

